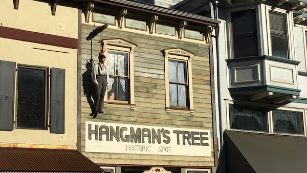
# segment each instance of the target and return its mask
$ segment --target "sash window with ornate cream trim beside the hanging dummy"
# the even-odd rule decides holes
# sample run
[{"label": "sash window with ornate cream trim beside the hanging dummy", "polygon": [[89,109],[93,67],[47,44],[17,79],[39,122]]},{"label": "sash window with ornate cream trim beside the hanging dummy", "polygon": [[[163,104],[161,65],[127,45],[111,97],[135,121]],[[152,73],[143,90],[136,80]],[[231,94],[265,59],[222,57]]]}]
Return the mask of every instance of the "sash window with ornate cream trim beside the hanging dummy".
[{"label": "sash window with ornate cream trim beside the hanging dummy", "polygon": [[134,110],[134,50],[135,45],[123,39],[103,41],[109,73],[109,88],[105,107],[124,106]]}]

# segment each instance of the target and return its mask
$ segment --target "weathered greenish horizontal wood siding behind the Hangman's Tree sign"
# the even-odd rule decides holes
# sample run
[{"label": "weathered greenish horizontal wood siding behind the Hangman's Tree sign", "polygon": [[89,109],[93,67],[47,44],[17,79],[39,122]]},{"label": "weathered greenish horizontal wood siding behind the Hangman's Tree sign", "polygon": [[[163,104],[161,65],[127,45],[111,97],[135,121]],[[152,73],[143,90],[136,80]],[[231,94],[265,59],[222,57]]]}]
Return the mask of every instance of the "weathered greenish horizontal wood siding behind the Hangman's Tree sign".
[{"label": "weathered greenish horizontal wood siding behind the Hangman's Tree sign", "polygon": [[[185,165],[213,166],[212,113],[210,95],[209,48],[176,39],[167,39],[152,35],[125,32],[123,30],[105,29],[87,41],[86,36],[93,26],[82,25],[82,98],[81,98],[81,152],[98,164],[132,164],[132,165]],[[104,114],[93,119],[89,100],[93,84],[91,82],[91,53],[95,63],[98,62],[99,39],[121,38],[137,45],[134,54],[135,75],[135,111],[124,107],[108,106]],[[165,111],[165,73],[163,49],[182,48],[194,54],[192,57],[194,116],[189,113]],[[88,96],[88,97],[86,97]],[[165,127],[209,129],[211,131],[212,157],[132,155],[110,153],[85,153],[85,121],[110,123],[153,125]]]}]

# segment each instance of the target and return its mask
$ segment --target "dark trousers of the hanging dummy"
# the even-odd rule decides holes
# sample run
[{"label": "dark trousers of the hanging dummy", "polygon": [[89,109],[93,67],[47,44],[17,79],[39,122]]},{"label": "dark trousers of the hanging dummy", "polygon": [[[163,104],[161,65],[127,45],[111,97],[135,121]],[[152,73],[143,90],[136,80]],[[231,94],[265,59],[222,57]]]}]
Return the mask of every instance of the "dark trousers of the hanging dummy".
[{"label": "dark trousers of the hanging dummy", "polygon": [[102,110],[103,107],[103,97],[106,91],[106,75],[97,75],[96,79],[99,86],[96,87],[94,95],[94,109],[95,111]]}]

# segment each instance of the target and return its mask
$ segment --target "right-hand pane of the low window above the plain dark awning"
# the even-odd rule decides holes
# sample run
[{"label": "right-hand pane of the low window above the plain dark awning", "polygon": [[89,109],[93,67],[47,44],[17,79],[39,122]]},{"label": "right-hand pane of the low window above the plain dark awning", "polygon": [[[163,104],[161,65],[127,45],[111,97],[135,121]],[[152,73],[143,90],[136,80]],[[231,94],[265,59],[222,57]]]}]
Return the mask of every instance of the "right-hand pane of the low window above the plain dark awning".
[{"label": "right-hand pane of the low window above the plain dark awning", "polygon": [[303,113],[273,110],[274,133],[304,134]]}]

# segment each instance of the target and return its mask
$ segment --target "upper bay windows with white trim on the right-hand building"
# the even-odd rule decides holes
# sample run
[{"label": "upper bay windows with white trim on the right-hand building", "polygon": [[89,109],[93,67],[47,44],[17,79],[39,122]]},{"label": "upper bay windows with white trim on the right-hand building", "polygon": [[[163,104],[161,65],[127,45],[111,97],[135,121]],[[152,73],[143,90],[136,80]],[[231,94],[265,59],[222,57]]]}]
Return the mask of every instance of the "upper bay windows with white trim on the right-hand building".
[{"label": "upper bay windows with white trim on the right-hand building", "polygon": [[231,9],[231,58],[269,55],[293,59],[291,13],[267,5]]}]

